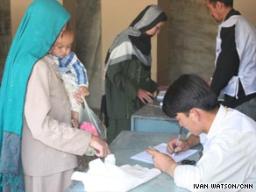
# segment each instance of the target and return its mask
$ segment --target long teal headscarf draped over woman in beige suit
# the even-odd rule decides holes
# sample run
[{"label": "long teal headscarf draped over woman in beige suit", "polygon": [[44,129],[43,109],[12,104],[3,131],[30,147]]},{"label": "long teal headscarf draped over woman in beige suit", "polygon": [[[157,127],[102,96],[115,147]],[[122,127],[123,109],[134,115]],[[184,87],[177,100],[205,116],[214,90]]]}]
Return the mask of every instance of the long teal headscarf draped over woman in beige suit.
[{"label": "long teal headscarf draped over woman in beige suit", "polygon": [[69,18],[58,1],[34,0],[18,26],[0,88],[0,192],[25,191],[20,157],[27,82]]}]

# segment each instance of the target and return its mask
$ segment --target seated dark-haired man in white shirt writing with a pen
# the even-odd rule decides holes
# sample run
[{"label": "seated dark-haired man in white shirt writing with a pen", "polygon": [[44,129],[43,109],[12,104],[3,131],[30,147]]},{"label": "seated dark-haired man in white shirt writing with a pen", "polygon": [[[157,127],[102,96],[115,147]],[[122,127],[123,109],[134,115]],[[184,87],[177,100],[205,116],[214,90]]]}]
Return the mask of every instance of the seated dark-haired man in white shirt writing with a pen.
[{"label": "seated dark-haired man in white shirt writing with a pen", "polygon": [[231,191],[256,191],[256,123],[250,117],[219,105],[217,96],[196,75],[181,75],[167,90],[162,109],[192,132],[177,146],[176,139],[170,140],[167,151],[179,153],[196,146],[198,136],[205,133],[203,156],[196,166],[179,165],[166,154],[147,149],[155,167],[191,191],[197,191],[198,184],[206,184],[204,191],[214,190],[212,184]]}]

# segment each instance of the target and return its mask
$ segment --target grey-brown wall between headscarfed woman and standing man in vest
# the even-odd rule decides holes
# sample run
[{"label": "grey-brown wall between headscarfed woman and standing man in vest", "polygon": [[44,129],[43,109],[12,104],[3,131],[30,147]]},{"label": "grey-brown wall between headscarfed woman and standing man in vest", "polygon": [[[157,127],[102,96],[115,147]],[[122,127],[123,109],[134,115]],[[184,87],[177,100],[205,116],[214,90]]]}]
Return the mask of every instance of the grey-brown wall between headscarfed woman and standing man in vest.
[{"label": "grey-brown wall between headscarfed woman and standing man in vest", "polygon": [[204,0],[170,0],[169,82],[181,74],[210,78],[214,70],[217,24]]}]

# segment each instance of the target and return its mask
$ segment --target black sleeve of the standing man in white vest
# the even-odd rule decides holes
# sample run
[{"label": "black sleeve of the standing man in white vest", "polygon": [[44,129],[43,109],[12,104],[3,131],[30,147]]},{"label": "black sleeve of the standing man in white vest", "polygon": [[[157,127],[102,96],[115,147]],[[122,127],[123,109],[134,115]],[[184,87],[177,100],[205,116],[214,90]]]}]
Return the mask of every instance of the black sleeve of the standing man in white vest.
[{"label": "black sleeve of the standing man in white vest", "polygon": [[220,32],[222,39],[221,53],[217,57],[216,69],[211,82],[211,89],[217,96],[228,84],[232,76],[238,75],[240,60],[236,49],[235,26],[222,28]]}]

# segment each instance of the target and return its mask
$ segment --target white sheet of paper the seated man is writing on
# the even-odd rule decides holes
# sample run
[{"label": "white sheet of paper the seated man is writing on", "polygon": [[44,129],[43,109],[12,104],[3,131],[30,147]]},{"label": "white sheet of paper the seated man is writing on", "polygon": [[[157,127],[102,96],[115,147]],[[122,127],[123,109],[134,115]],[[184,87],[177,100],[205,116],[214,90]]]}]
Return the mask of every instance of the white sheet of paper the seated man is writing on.
[{"label": "white sheet of paper the seated man is writing on", "polygon": [[[153,148],[157,149],[161,153],[165,153],[165,154],[169,155],[171,158],[174,159],[175,162],[184,160],[184,159],[188,158],[190,155],[197,152],[196,149],[188,149],[186,152],[177,153],[173,157],[172,154],[167,153],[167,144],[166,143],[161,143],[160,145],[154,146]],[[140,160],[140,161],[144,161],[147,163],[153,163],[152,155],[149,153],[146,153],[146,151],[133,155],[131,157],[131,159],[132,160]]]}]

